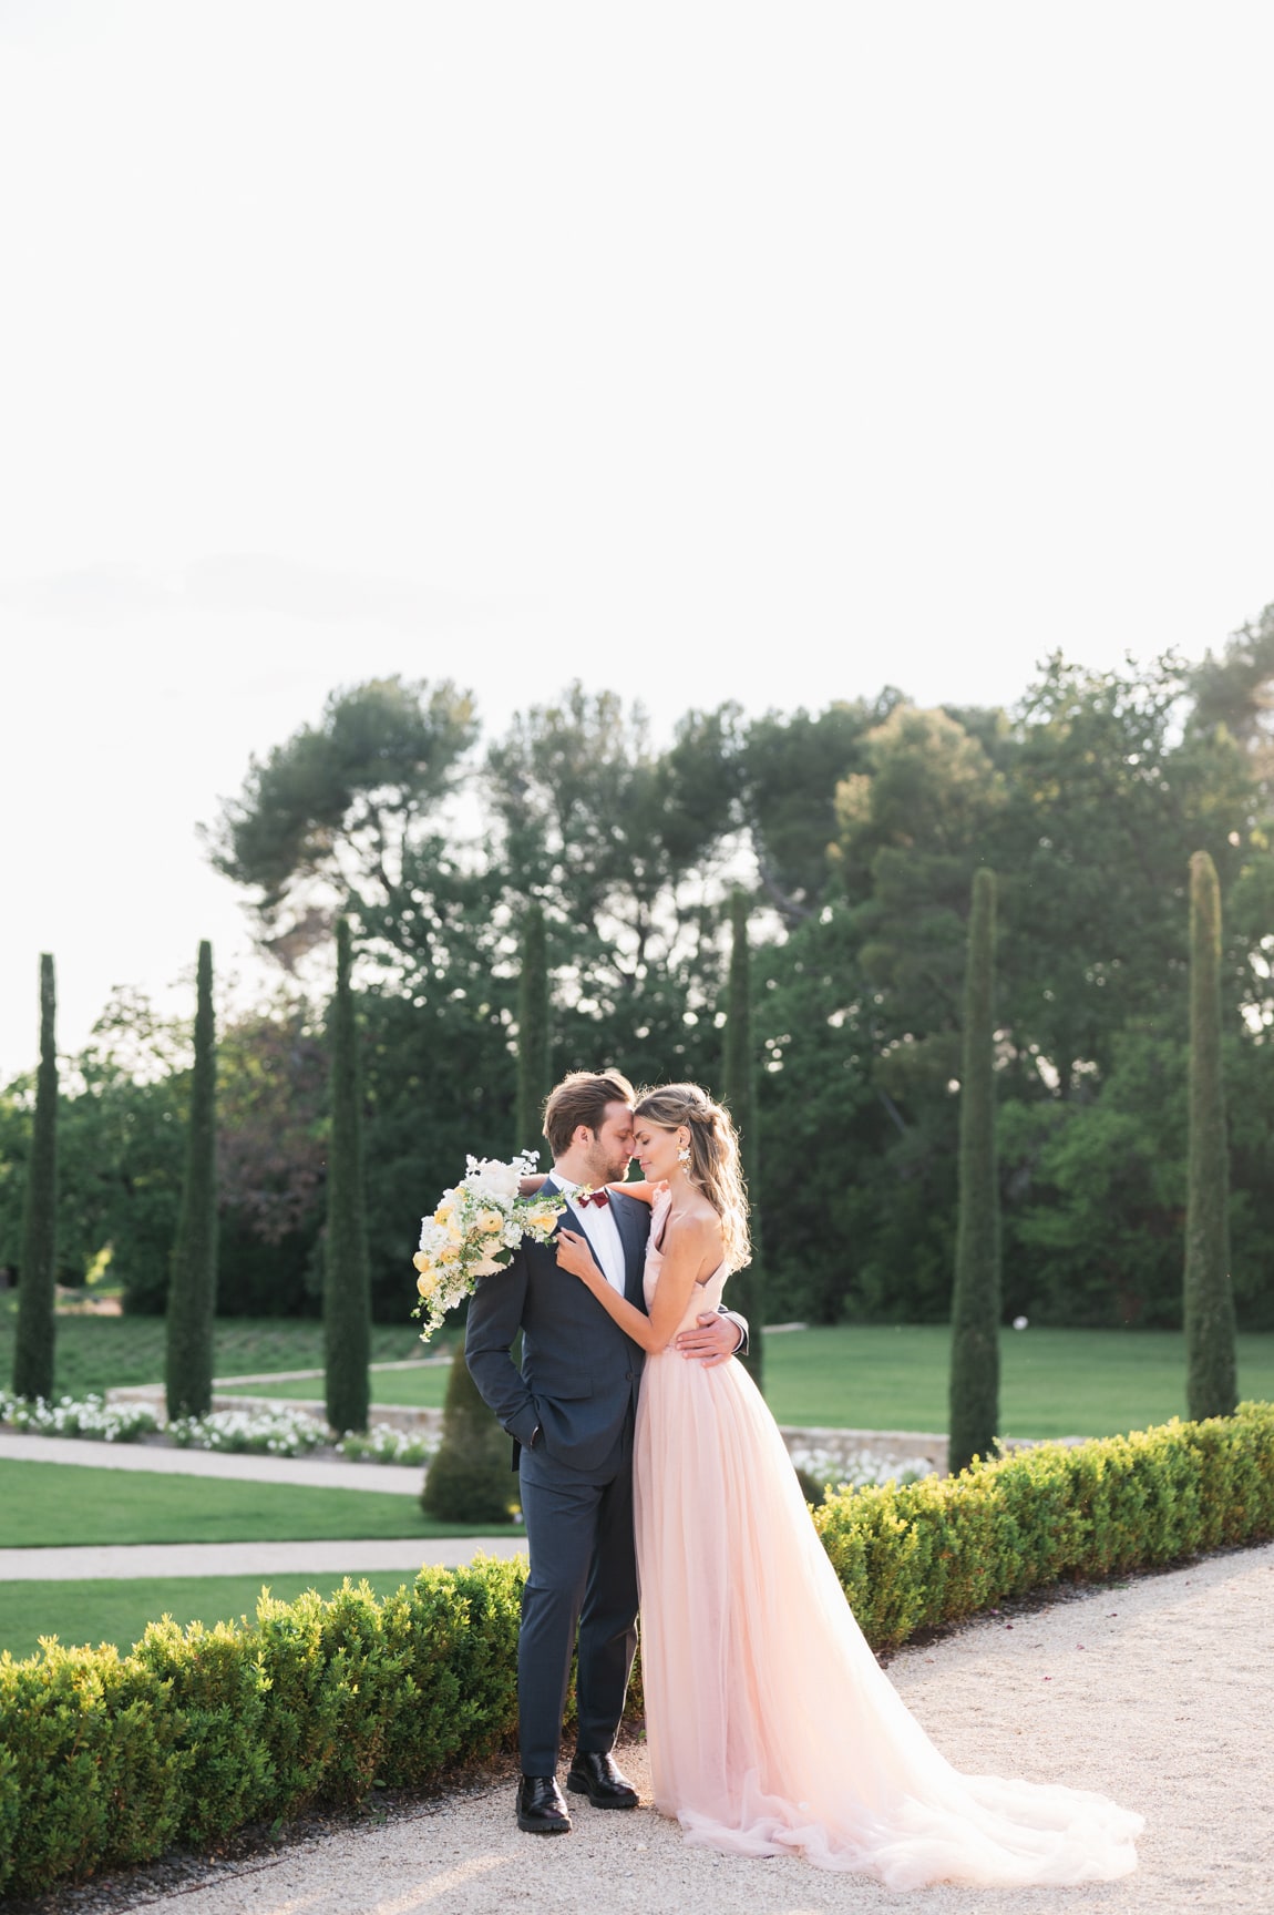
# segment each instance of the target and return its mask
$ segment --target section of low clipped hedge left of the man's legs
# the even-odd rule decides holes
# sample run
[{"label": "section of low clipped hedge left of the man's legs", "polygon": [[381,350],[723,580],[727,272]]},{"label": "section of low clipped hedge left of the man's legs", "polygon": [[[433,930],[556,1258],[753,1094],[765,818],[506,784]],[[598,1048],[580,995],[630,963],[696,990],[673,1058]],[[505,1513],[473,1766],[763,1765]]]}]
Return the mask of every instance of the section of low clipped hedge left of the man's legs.
[{"label": "section of low clipped hedge left of the man's legs", "polygon": [[264,1591],[254,1626],[165,1618],[128,1656],[0,1656],[0,1894],[490,1756],[516,1725],[522,1576],[478,1559],[384,1603],[348,1580],[331,1601]]}]

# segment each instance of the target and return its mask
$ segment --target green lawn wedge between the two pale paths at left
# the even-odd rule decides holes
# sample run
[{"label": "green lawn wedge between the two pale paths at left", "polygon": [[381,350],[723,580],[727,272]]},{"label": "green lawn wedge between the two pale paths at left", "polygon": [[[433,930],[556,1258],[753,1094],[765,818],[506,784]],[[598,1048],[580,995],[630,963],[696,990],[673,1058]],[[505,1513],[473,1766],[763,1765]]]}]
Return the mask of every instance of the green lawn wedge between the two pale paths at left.
[{"label": "green lawn wedge between the two pale paths at left", "polygon": [[[367,1469],[375,1469],[369,1463]],[[511,1496],[515,1478],[509,1476]],[[222,1476],[157,1476],[78,1463],[0,1461],[10,1549],[92,1543],[316,1542],[482,1536],[490,1524],[434,1522],[413,1496],[312,1490]]]}]

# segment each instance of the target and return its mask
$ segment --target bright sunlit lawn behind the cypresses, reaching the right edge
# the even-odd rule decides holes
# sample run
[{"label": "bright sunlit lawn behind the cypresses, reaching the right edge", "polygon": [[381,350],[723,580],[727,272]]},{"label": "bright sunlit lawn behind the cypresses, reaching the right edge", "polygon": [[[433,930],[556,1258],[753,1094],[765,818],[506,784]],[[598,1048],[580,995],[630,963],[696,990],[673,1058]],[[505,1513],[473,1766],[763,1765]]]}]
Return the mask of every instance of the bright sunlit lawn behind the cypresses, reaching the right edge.
[{"label": "bright sunlit lawn behind the cypresses, reaching the right edge", "polygon": [[[779,1423],[945,1431],[945,1325],[844,1325],[765,1339],[765,1396]],[[1186,1413],[1186,1354],[1175,1331],[1006,1329],[1006,1436],[1109,1436]],[[440,1406],[446,1367],[373,1373],[377,1404]],[[258,1385],[312,1398],[312,1383]],[[1274,1396],[1274,1337],[1240,1337],[1240,1392]],[[247,1394],[247,1392],[245,1392]]]}]

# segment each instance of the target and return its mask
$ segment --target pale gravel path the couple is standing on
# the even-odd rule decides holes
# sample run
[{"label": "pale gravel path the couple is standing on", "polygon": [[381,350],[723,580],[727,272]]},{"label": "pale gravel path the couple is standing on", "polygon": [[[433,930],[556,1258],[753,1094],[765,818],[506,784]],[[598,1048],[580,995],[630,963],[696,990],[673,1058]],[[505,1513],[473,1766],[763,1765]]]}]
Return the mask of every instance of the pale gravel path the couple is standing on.
[{"label": "pale gravel path the couple is standing on", "polygon": [[[1102,1789],[1146,1815],[1142,1865],[1092,1888],[895,1894],[800,1859],[685,1848],[652,1810],[597,1814],[543,1840],[513,1789],[451,1794],[340,1827],[180,1888],[113,1886],[113,1911],[184,1915],[1270,1915],[1274,1545],[1211,1557],[907,1649],[890,1674],[939,1746],[974,1771]],[[641,1748],[626,1754],[648,1787]],[[121,1898],[121,1890],[124,1890]],[[92,1894],[92,1890],[88,1892]],[[71,1904],[67,1904],[71,1905]],[[98,1904],[99,1907],[105,1904]]]}]

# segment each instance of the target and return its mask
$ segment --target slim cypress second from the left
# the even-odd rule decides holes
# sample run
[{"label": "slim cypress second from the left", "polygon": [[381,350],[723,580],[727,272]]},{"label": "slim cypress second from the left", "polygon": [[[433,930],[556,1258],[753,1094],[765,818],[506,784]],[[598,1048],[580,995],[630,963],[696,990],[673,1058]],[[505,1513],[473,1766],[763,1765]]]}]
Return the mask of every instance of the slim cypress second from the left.
[{"label": "slim cypress second from the left", "polygon": [[195,1069],[189,1082],[186,1178],[168,1287],[168,1417],[207,1417],[212,1408],[216,1321],[216,1023],[212,946],[199,944]]}]

